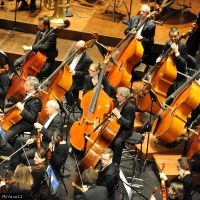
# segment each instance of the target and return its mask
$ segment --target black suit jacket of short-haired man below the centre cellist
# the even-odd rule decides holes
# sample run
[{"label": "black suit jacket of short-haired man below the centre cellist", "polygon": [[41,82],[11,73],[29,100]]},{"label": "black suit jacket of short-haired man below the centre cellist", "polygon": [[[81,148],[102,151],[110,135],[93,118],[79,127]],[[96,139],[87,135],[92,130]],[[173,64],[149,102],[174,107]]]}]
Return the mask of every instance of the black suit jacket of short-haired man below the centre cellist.
[{"label": "black suit jacket of short-haired man below the centre cellist", "polygon": [[118,173],[114,163],[111,163],[103,171],[99,172],[97,185],[105,186],[108,193],[113,192],[113,187],[118,182]]}]

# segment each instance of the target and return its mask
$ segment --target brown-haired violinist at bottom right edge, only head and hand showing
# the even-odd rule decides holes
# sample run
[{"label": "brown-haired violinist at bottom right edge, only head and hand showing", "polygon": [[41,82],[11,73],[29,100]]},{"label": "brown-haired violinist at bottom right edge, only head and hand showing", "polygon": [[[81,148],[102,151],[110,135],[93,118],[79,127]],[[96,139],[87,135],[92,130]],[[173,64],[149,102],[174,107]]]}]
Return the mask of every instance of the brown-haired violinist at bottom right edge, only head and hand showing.
[{"label": "brown-haired violinist at bottom right edge, only head and hand showing", "polygon": [[[184,188],[183,184],[180,182],[173,182],[171,183],[168,191],[167,191],[168,200],[183,200],[184,197]],[[156,200],[154,195],[151,195],[149,200]]]}]

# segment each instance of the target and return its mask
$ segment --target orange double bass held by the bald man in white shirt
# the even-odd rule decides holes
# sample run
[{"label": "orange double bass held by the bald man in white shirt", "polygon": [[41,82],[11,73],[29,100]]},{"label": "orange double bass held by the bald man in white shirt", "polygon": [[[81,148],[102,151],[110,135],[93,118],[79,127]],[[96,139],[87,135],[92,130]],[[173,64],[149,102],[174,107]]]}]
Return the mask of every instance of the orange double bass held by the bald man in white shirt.
[{"label": "orange double bass held by the bald man in white shirt", "polygon": [[40,85],[41,88],[50,81],[50,84],[45,91],[46,95],[42,96],[42,109],[40,112],[41,114],[38,117],[38,121],[41,124],[43,124],[45,119],[47,118],[47,114],[45,111],[46,102],[50,99],[54,100],[55,96],[57,97],[57,100],[61,101],[65,93],[69,91],[72,85],[72,75],[69,73],[70,68],[67,63],[69,63],[79,51],[91,48],[93,44],[93,39],[87,41],[83,47],[77,49],[68,58],[64,59],[60,66]]}]

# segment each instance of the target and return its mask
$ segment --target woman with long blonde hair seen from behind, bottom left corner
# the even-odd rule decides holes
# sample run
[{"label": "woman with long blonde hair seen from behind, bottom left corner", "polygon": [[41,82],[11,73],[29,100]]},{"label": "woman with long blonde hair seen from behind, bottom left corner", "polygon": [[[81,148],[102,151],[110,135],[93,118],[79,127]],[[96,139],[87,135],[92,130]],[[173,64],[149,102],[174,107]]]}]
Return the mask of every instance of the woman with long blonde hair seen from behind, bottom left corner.
[{"label": "woman with long blonde hair seen from behind, bottom left corner", "polygon": [[[10,195],[10,199],[13,195],[20,195],[21,199],[32,199],[33,176],[29,167],[24,164],[20,164],[15,169],[14,175],[11,179],[1,181],[1,195]],[[14,196],[13,196],[14,198]],[[16,197],[15,197],[16,198]]]}]

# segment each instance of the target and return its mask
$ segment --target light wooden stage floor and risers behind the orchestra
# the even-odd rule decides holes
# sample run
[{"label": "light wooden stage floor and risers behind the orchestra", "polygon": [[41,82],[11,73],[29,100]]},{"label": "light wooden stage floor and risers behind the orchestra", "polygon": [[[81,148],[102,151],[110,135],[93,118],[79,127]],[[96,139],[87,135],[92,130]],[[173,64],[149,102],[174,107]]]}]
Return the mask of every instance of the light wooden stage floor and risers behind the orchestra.
[{"label": "light wooden stage floor and risers behind the orchestra", "polygon": [[[66,4],[63,0],[56,0],[56,2],[58,4]],[[133,0],[131,16],[136,15],[140,6],[144,3],[148,4],[148,2],[148,0]],[[155,45],[163,45],[165,43],[168,39],[168,30],[171,26],[177,26],[182,34],[188,32],[191,28],[191,23],[196,21],[199,13],[199,0],[178,0],[178,2],[184,2],[185,5],[189,5],[191,2],[191,8],[178,12],[168,20],[165,19],[167,16],[170,16],[174,11],[178,11],[182,7],[173,3],[170,7],[163,9],[161,16],[165,20],[162,26],[158,24],[156,27]],[[39,16],[56,16],[54,17],[54,22],[51,22],[52,27],[60,25],[55,23],[55,21],[60,22],[61,19],[66,19],[63,14],[63,12],[66,12],[65,8],[62,8],[61,12],[60,10],[59,12],[57,12],[58,10],[48,10],[44,6],[44,2],[42,2],[41,11],[38,9],[32,15],[29,15],[28,11],[18,11],[15,13],[15,1],[4,0],[4,4],[7,12],[3,8],[0,9],[0,48],[8,53],[11,51],[16,54],[24,54],[21,46],[23,44],[31,45],[33,43],[37,31],[37,18]],[[39,4],[40,1],[37,0],[38,8],[40,6]],[[119,0],[117,1],[117,5],[115,11],[124,14],[124,18],[128,19],[128,13],[125,7],[127,6],[128,10],[130,10],[130,1]],[[154,7],[154,3],[149,3],[149,5]],[[61,36],[58,34],[58,49],[60,51],[57,60],[64,58],[74,44],[74,41],[92,38],[93,33],[99,34],[99,41],[102,44],[113,47],[124,37],[123,32],[126,25],[122,23],[122,15],[117,13],[115,13],[115,21],[113,21],[113,3],[110,0],[101,0],[100,3],[95,3],[95,0],[73,0],[68,10],[73,13],[73,16],[68,17],[71,24],[67,28],[67,31]],[[111,14],[102,14],[106,10],[111,11]],[[15,18],[16,23],[14,22]],[[13,28],[17,29],[14,31],[14,37],[10,38],[8,35]],[[27,31],[27,33],[18,33],[18,28]],[[99,57],[96,57],[96,53],[94,54],[94,57],[99,59]]]}]

